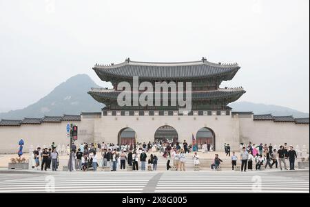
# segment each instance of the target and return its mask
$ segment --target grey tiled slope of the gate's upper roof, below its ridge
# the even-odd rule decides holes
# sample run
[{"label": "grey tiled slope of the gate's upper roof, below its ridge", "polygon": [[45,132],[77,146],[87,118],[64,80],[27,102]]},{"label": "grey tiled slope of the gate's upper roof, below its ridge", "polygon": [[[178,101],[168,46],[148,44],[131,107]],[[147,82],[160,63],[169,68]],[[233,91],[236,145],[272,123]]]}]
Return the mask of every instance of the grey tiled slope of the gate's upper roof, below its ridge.
[{"label": "grey tiled slope of the gate's upper roof, below its ridge", "polygon": [[[200,65],[196,65],[197,67]],[[138,76],[141,80],[189,80],[189,79],[205,79],[205,78],[216,78],[219,77],[221,80],[231,80],[234,78],[236,73],[238,72],[238,69],[240,69],[239,66],[233,66],[231,67],[214,67],[209,66],[211,69],[195,69],[194,68],[184,68],[184,69],[165,69],[166,71],[163,72],[164,69],[156,69],[158,66],[141,66],[137,65],[136,68],[134,65],[130,65],[130,67],[133,68],[125,68],[127,66],[120,66],[115,68],[99,68],[99,67],[93,67],[96,74],[101,78],[103,81],[110,81],[114,78],[118,79],[132,79],[133,76]],[[137,68],[137,67],[144,67],[143,69]],[[151,68],[150,68],[151,67]],[[178,66],[174,66],[178,67]],[[180,67],[187,67],[187,66],[180,66]],[[130,72],[129,70],[132,70]],[[178,72],[177,70],[180,70]],[[207,71],[208,70],[208,71]],[[212,72],[212,71],[215,72]],[[209,74],[208,74],[209,73]]]}]

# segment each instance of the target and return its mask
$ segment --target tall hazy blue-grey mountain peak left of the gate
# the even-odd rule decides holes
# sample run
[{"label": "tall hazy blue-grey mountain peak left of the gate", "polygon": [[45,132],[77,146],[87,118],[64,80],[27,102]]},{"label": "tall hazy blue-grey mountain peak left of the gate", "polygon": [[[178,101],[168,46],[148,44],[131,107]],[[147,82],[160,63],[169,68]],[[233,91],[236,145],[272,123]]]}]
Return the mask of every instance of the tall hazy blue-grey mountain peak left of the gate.
[{"label": "tall hazy blue-grey mountain peak left of the gate", "polygon": [[0,113],[0,119],[41,118],[80,114],[81,111],[100,111],[103,104],[92,98],[87,91],[99,87],[86,74],[73,76],[57,86],[50,94],[24,109]]}]

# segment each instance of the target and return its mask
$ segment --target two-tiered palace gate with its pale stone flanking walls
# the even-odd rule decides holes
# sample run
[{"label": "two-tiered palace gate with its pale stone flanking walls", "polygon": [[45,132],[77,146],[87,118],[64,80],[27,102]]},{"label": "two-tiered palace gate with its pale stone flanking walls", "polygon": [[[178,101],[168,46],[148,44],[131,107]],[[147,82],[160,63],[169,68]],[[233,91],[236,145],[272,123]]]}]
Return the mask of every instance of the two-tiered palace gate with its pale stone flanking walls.
[{"label": "two-tiered palace gate with its pale stone flanking walls", "polygon": [[[231,111],[227,105],[238,100],[245,90],[242,87],[221,88],[220,84],[234,78],[240,69],[236,63],[210,63],[205,58],[182,63],[146,63],[127,58],[123,63],[95,65],[93,69],[101,80],[113,85],[113,89],[92,88],[88,91],[92,98],[105,105],[103,109],[98,109],[97,113],[76,111],[78,116],[1,120],[0,153],[16,153],[21,138],[25,140],[26,151],[30,146],[50,146],[52,142],[66,146],[70,142],[66,131],[68,123],[78,125],[77,143],[132,144],[159,140],[192,143],[194,135],[198,146],[207,142],[215,151],[224,151],[225,143],[237,150],[240,143],[278,145],[287,142],[309,152],[309,118]],[[134,77],[139,83],[147,83],[147,87],[137,87]],[[119,87],[118,84],[124,82],[131,91]],[[184,85],[177,85],[176,90],[171,89],[166,94],[156,88],[158,83],[169,87],[169,83],[180,82]],[[185,91],[186,83],[191,83],[190,97]],[[130,98],[129,104],[119,105],[120,94]],[[184,107],[184,102],[171,104],[180,94],[185,95],[184,100],[191,98],[191,102],[187,102],[189,110]],[[159,101],[168,104],[136,104],[134,97],[143,100],[159,97]]]}]

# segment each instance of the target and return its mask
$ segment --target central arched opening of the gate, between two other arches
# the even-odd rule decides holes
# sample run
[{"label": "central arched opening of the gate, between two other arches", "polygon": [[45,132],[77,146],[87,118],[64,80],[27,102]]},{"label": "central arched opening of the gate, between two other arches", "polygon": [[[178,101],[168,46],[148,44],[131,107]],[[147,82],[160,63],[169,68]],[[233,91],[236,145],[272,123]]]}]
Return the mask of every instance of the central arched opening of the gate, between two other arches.
[{"label": "central arched opening of the gate, between two other arches", "polygon": [[155,142],[178,142],[178,132],[174,127],[165,125],[155,131]]}]

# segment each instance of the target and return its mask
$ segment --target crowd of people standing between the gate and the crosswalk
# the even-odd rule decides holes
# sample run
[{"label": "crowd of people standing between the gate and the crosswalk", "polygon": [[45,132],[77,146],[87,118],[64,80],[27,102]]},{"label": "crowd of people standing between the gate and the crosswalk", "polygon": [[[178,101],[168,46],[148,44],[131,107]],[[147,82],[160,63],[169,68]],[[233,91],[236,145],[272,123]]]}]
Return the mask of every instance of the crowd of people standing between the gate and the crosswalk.
[{"label": "crowd of people standing between the gate and the crosswalk", "polygon": [[[70,148],[70,146],[69,146]],[[282,164],[287,169],[286,160],[289,160],[289,169],[294,170],[295,160],[297,153],[293,146],[287,146],[287,143],[280,146],[280,149],[274,149],[272,144],[249,144],[245,146],[242,144],[240,157],[233,151],[231,155],[231,168],[234,170],[240,159],[241,171],[252,171],[255,165],[256,170],[262,168],[273,168],[275,165],[282,170]],[[206,151],[209,147],[206,146]],[[161,161],[164,160],[167,171],[174,166],[176,171],[185,171],[185,162],[187,162],[186,153],[192,153],[192,146],[187,144],[184,140],[183,143],[173,144],[171,142],[145,142],[136,144],[112,144],[102,142],[102,144],[87,144],[86,142],[79,144],[72,143],[68,155],[70,155],[68,166],[71,171],[96,171],[100,166],[102,168],[110,168],[110,171],[117,169],[125,170],[126,166],[131,166],[132,171],[148,170],[156,171],[159,162],[158,152],[161,155]],[[101,154],[99,159],[98,154]],[[225,154],[230,156],[230,146],[225,143]],[[47,171],[52,168],[52,171],[57,171],[59,167],[59,153],[56,151],[56,144],[52,142],[50,148],[33,151],[34,168],[41,166]],[[192,162],[194,165],[199,165],[199,155],[195,151],[192,155]],[[218,154],[215,155],[214,161],[211,163],[211,168],[217,170],[220,163]],[[40,164],[41,163],[41,164]],[[151,169],[149,169],[151,168]]]}]

